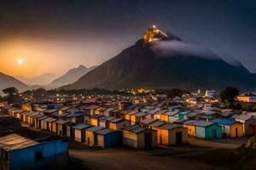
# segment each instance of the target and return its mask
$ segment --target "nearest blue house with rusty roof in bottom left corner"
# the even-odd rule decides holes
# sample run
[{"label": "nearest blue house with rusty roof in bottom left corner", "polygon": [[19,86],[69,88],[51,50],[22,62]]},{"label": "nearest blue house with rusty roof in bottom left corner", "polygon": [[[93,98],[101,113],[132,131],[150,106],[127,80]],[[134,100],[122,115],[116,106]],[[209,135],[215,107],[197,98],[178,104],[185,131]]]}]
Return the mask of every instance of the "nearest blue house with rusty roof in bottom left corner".
[{"label": "nearest blue house with rusty roof in bottom left corner", "polygon": [[12,133],[0,138],[0,169],[63,169],[68,143],[61,139],[38,142]]}]

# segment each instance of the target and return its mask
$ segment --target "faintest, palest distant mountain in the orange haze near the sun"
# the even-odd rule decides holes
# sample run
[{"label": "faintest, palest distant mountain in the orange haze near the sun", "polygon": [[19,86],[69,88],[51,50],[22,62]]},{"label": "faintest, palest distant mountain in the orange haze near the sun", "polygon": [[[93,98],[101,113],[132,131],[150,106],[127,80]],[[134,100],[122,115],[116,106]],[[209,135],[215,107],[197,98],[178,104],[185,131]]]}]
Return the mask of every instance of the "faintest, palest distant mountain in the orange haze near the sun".
[{"label": "faintest, palest distant mountain in the orange haze near the sun", "polygon": [[45,85],[55,80],[56,76],[52,73],[45,73],[38,77],[16,77],[21,82],[29,85]]}]

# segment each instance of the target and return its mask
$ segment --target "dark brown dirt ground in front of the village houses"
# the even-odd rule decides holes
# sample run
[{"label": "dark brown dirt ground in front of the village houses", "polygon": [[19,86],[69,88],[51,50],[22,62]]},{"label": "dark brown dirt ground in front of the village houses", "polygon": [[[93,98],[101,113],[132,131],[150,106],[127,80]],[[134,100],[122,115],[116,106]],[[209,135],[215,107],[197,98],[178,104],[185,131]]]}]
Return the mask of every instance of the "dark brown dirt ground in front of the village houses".
[{"label": "dark brown dirt ground in front of the village houses", "polygon": [[236,166],[234,163],[239,161],[240,157],[233,152],[245,140],[246,138],[213,141],[189,139],[190,144],[162,146],[153,150],[134,150],[127,147],[88,149],[82,144],[71,143],[69,155],[75,165],[79,166],[78,169],[241,169],[240,164]]}]

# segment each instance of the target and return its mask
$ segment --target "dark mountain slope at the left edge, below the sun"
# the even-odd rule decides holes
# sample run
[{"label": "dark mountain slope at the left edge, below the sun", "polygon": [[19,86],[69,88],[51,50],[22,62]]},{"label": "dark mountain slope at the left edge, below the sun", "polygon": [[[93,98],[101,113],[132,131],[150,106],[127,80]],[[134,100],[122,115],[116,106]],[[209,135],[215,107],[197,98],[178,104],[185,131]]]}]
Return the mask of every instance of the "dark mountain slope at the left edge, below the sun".
[{"label": "dark mountain slope at the left edge, below the sun", "polygon": [[15,77],[10,77],[8,75],[3,74],[0,72],[0,92],[2,93],[2,90],[4,88],[12,88],[15,87],[19,89],[20,91],[29,89],[29,87],[19,80],[15,79]]}]

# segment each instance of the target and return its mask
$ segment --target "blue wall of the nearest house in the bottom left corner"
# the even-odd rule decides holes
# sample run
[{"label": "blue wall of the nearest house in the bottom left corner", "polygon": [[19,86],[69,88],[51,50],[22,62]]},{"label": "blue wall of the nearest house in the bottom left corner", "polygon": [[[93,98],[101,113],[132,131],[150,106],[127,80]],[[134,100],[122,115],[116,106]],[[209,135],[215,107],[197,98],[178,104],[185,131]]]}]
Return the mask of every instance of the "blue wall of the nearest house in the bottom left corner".
[{"label": "blue wall of the nearest house in the bottom left corner", "polygon": [[[42,152],[43,159],[36,160],[35,153]],[[9,156],[9,169],[53,169],[66,167],[68,162],[67,141],[56,140],[22,150],[13,150]]]}]

